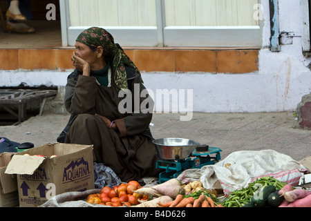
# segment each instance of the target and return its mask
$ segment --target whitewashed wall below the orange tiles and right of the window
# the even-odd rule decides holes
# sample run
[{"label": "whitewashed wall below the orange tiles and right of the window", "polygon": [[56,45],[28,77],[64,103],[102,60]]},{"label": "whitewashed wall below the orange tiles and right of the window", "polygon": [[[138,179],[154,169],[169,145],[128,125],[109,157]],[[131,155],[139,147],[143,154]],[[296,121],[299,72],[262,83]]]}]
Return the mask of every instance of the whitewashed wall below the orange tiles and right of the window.
[{"label": "whitewashed wall below the orange tiles and right of the window", "polygon": [[[295,111],[303,95],[311,90],[310,59],[301,49],[300,3],[279,0],[280,32],[296,32],[281,46],[281,52],[271,52],[268,1],[264,9],[263,48],[259,52],[256,73],[142,73],[144,84],[157,89],[193,91],[193,111],[206,113]],[[1,71],[0,86],[65,86],[70,73],[52,71]],[[156,104],[157,106],[157,104]]]}]

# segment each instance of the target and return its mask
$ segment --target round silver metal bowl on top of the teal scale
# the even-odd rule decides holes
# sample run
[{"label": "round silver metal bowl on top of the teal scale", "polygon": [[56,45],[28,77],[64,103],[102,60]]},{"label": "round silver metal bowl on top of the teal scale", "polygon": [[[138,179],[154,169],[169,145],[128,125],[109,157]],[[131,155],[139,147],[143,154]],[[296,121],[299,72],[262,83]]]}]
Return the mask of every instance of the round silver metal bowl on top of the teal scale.
[{"label": "round silver metal bowl on top of the teal scale", "polygon": [[158,157],[165,160],[182,160],[189,157],[198,142],[184,138],[160,138],[153,140]]}]

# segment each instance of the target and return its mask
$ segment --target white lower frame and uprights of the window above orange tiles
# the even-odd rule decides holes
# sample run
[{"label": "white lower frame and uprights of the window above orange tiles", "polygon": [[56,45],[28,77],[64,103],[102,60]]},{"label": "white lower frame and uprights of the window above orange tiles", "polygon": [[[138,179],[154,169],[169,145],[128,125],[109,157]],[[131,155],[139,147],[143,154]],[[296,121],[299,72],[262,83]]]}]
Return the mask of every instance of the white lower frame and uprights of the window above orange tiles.
[{"label": "white lower frame and uprights of the window above orange tiles", "polygon": [[[165,26],[165,0],[156,0],[157,26],[100,26],[122,47],[234,47],[261,48],[259,26]],[[90,26],[70,26],[68,0],[60,1],[62,45],[74,46]]]}]

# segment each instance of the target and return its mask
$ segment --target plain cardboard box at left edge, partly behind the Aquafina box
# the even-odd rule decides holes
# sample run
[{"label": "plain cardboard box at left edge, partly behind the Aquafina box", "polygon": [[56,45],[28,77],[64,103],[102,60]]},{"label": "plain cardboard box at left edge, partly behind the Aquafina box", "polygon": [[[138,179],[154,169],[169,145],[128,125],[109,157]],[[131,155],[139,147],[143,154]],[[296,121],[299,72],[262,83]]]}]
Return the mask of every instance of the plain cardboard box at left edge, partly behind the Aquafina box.
[{"label": "plain cardboard box at left edge, partly behind the Aquafina box", "polygon": [[15,153],[0,154],[0,207],[13,207],[19,205],[16,175],[5,174],[6,166]]}]

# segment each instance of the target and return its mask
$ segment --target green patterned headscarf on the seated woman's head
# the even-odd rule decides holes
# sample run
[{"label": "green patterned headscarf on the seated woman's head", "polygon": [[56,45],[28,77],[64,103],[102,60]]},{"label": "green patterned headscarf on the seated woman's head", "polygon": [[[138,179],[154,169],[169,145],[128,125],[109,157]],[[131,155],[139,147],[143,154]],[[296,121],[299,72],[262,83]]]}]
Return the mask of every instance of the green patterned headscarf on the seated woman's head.
[{"label": "green patterned headscarf on the seated woman's head", "polygon": [[140,75],[140,71],[133,61],[124,53],[119,44],[115,44],[113,36],[103,28],[92,27],[84,30],[77,37],[77,40],[86,46],[97,48],[102,46],[104,50],[109,50],[113,57],[113,82],[117,90],[128,89],[126,71],[124,65],[131,66],[136,73]]}]

